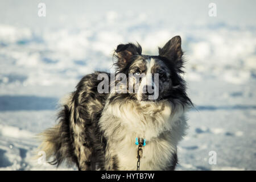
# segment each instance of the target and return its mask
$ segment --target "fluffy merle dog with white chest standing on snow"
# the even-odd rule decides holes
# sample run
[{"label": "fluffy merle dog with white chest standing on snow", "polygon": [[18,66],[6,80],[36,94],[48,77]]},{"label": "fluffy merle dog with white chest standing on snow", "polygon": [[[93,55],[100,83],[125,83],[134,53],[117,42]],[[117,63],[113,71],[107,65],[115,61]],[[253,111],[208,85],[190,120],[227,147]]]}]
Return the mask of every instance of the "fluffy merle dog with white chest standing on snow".
[{"label": "fluffy merle dog with white chest standing on snow", "polygon": [[[177,144],[187,129],[185,113],[193,104],[182,76],[180,36],[158,49],[158,56],[142,55],[138,43],[119,44],[114,76],[122,79],[111,81],[107,72],[81,79],[64,101],[57,125],[42,133],[40,150],[50,164],[65,161],[79,170],[175,169]],[[117,84],[126,92],[111,91]]]}]

